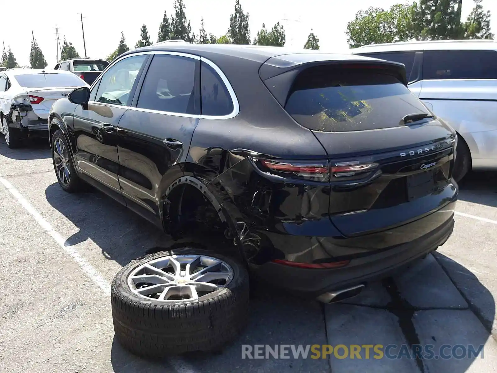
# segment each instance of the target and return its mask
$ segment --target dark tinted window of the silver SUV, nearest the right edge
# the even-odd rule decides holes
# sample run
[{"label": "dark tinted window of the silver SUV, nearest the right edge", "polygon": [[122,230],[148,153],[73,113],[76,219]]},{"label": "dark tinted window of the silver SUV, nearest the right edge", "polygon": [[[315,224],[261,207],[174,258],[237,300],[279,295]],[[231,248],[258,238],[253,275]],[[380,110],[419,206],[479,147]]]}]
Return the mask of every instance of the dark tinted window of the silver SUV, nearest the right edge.
[{"label": "dark tinted window of the silver SUV, nearest the right edge", "polygon": [[496,51],[424,51],[423,79],[497,79]]}]

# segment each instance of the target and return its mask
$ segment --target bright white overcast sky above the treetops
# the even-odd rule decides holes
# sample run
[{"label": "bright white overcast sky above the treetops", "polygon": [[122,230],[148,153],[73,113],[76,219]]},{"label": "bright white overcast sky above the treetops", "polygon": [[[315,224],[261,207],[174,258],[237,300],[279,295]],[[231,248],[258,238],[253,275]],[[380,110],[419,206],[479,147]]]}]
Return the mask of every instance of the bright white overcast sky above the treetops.
[{"label": "bright white overcast sky above the treetops", "polygon": [[[221,36],[226,33],[235,0],[183,0],[186,16],[192,31],[198,34],[200,17],[204,17],[207,34]],[[345,52],[348,49],[345,30],[355,13],[369,6],[388,9],[402,0],[241,0],[244,12],[249,13],[251,39],[262,27],[271,28],[276,22],[283,24],[287,47],[302,48],[307,36],[313,32],[319,38],[322,51]],[[86,6],[85,4],[90,4]],[[80,12],[83,12],[86,55],[105,58],[117,48],[124,32],[126,42],[133,48],[140,38],[140,28],[147,25],[151,40],[157,41],[159,25],[164,11],[172,14],[173,0],[142,1],[34,1],[25,0],[23,6],[15,1],[4,1],[0,22],[0,41],[10,47],[21,66],[29,65],[31,31],[45,55],[48,67],[53,68],[57,59],[56,30],[59,37],[72,42],[80,56],[84,56]],[[497,34],[497,0],[483,0],[485,10],[492,12],[492,31]],[[463,0],[462,18],[466,19],[474,3]],[[21,9],[21,10],[20,10]],[[21,15],[20,12],[23,12]],[[62,41],[61,41],[62,43]]]}]

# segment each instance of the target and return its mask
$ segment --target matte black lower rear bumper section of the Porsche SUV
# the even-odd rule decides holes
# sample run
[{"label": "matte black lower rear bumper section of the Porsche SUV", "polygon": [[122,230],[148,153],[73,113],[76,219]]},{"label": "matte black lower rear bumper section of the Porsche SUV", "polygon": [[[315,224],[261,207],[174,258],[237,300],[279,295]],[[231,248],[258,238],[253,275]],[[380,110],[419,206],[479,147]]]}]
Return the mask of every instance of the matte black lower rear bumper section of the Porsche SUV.
[{"label": "matte black lower rear bumper section of the Porsche SUV", "polygon": [[[455,206],[455,202],[449,205]],[[449,207],[446,206],[443,210],[449,210]],[[443,211],[437,211],[434,214],[437,213],[443,214]],[[346,267],[303,269],[266,262],[262,265],[252,264],[251,272],[258,280],[274,284],[294,294],[317,297],[327,291],[384,277],[399,267],[436,250],[452,234],[454,227],[453,216],[452,210],[450,217],[445,219],[442,224],[412,241],[395,245],[388,249],[355,255],[355,258],[352,257]],[[431,218],[433,219],[433,217]],[[407,224],[407,226],[411,224]],[[413,226],[412,229],[416,229],[416,227]],[[392,233],[386,233],[386,236],[395,234],[395,230],[390,232]]]}]

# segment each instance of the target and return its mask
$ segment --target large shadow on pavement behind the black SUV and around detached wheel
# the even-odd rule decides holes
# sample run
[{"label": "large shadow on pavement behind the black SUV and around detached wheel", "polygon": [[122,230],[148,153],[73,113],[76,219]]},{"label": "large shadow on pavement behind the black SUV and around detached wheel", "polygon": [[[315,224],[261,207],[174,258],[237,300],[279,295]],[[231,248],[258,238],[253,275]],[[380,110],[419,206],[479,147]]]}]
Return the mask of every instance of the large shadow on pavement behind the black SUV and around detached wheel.
[{"label": "large shadow on pavement behind the black SUV and around detached wheel", "polygon": [[[250,300],[248,327],[218,354],[191,353],[164,362],[151,362],[125,351],[112,341],[115,373],[132,372],[485,372],[497,361],[490,337],[495,300],[468,269],[435,254],[385,280],[373,282],[359,296],[342,303],[322,305],[282,294],[264,293]],[[490,343],[489,343],[490,341]],[[330,359],[242,359],[243,345],[378,345],[394,344],[390,358],[343,358],[341,349]],[[426,348],[446,356],[459,345],[484,348],[481,355],[463,359],[397,358],[402,345]],[[295,346],[295,347],[297,347]],[[494,350],[492,350],[494,348]],[[395,355],[395,356],[394,356]],[[424,352],[423,352],[423,356]],[[425,356],[426,357],[426,356]],[[429,358],[429,356],[428,356]],[[490,369],[491,371],[491,369]]]}]

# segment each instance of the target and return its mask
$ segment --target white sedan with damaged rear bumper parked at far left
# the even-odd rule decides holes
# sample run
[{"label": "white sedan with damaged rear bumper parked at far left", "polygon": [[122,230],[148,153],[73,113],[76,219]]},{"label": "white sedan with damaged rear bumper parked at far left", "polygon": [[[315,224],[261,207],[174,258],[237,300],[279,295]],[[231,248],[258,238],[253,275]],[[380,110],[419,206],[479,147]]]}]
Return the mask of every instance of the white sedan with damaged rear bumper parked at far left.
[{"label": "white sedan with damaged rear bumper parked at far left", "polygon": [[28,137],[48,137],[48,113],[59,98],[89,87],[69,71],[7,69],[0,72],[0,132],[9,148]]}]

